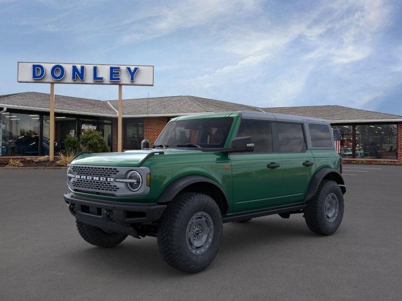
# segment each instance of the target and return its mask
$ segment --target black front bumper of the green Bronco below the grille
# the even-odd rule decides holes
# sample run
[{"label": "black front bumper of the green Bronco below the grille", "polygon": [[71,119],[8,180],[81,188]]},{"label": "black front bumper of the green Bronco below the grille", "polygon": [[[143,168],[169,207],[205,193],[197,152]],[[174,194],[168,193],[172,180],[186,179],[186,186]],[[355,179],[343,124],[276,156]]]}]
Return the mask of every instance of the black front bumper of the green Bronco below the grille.
[{"label": "black front bumper of the green Bronco below the grille", "polygon": [[64,195],[70,213],[79,221],[107,231],[138,237],[132,224],[151,224],[160,219],[166,205],[122,203]]}]

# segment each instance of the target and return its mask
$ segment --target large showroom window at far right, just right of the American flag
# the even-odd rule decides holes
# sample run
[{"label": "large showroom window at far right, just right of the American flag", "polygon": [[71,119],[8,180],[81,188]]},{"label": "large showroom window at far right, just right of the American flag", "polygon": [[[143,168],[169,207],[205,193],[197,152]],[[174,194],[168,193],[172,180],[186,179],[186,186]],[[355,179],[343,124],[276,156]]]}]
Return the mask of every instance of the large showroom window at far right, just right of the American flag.
[{"label": "large showroom window at far right, just right of the American flag", "polygon": [[396,124],[356,125],[356,158],[396,160]]}]

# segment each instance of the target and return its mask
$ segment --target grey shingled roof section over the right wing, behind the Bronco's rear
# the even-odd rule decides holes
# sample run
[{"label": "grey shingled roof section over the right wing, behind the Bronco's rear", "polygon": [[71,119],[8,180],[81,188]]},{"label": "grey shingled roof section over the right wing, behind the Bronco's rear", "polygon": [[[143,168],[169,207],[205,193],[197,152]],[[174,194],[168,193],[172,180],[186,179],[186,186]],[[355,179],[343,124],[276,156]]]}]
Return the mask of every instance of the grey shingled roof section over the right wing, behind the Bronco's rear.
[{"label": "grey shingled roof section over the right wing, behind the Bronco's rear", "polygon": [[294,114],[307,117],[324,118],[331,122],[350,122],[350,121],[383,121],[398,120],[402,121],[402,116],[385,114],[361,109],[354,109],[340,105],[315,105],[315,106],[295,106],[295,107],[274,107],[262,108],[265,112]]}]

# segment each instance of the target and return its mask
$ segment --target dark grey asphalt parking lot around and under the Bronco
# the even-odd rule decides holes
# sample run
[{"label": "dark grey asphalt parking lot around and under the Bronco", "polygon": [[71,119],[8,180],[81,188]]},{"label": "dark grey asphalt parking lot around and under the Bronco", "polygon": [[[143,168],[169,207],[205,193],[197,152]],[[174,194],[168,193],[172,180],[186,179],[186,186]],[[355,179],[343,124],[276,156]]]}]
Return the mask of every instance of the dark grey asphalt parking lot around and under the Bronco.
[{"label": "dark grey asphalt parking lot around and under the Bronco", "polygon": [[224,226],[202,273],[163,262],[156,239],[113,249],[78,235],[62,195],[65,170],[0,171],[1,300],[400,300],[402,167],[344,165],[339,230],[302,215]]}]

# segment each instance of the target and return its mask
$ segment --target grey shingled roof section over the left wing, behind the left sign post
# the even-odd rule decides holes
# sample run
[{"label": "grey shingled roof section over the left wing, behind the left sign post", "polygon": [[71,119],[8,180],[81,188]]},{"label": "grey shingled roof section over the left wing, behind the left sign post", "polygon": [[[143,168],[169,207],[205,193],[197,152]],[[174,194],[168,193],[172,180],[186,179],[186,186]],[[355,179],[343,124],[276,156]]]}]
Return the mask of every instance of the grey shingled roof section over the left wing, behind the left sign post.
[{"label": "grey shingled roof section over the left wing, behind the left sign post", "polygon": [[[24,92],[0,96],[0,106],[35,111],[49,111],[49,94]],[[115,116],[116,111],[107,101],[55,95],[55,112],[82,115]]]}]

